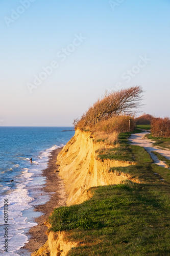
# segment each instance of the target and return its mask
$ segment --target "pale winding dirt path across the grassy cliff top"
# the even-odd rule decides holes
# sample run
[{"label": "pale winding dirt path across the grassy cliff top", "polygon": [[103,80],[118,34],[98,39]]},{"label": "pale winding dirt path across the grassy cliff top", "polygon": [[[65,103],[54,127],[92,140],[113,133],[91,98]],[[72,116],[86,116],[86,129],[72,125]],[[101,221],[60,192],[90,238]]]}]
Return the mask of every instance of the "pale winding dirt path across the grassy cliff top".
[{"label": "pale winding dirt path across the grassy cliff top", "polygon": [[150,132],[148,131],[144,131],[142,133],[131,134],[131,136],[129,137],[130,144],[144,147],[144,149],[151,155],[154,163],[167,168],[165,162],[160,161],[157,156],[154,155],[154,153],[151,153],[151,151],[156,151],[170,160],[170,150],[162,150],[160,148],[157,148],[152,145],[154,143],[153,140],[143,138],[146,134],[149,133]]}]

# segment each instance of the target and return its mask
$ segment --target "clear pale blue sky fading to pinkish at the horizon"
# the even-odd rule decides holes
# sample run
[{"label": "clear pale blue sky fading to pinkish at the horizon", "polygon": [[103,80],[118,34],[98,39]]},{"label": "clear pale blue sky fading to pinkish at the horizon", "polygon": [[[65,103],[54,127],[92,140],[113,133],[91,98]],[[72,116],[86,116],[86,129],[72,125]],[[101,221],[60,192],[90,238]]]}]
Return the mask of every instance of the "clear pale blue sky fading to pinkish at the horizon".
[{"label": "clear pale blue sky fading to pinkish at the horizon", "polygon": [[106,90],[142,86],[170,116],[169,0],[1,0],[2,126],[71,126]]}]

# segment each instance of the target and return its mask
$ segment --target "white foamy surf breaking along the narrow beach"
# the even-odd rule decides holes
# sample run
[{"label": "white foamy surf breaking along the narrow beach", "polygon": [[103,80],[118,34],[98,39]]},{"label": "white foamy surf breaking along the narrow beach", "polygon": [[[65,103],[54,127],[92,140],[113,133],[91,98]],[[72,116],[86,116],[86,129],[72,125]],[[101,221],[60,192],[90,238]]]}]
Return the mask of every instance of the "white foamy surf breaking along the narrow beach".
[{"label": "white foamy surf breaking along the narrow beach", "polygon": [[[41,177],[42,170],[47,167],[48,157],[59,147],[60,146],[58,145],[53,145],[38,154],[32,154],[32,163],[30,163],[30,158],[28,157],[18,157],[18,164],[14,162],[12,168],[8,169],[10,171],[13,170],[13,172],[9,172],[9,180],[14,180],[14,183],[7,183],[8,185],[1,187],[1,191],[9,200],[9,224],[12,228],[12,232],[9,236],[10,255],[17,255],[15,251],[28,242],[28,238],[23,230],[37,225],[28,219],[29,217],[26,217],[27,214],[23,215],[22,212],[28,210],[36,203],[37,198],[39,197],[40,187],[45,184],[45,179],[43,177],[38,179],[37,177]],[[14,187],[11,188],[11,185],[14,185]],[[43,200],[46,200],[46,197],[48,196],[44,195]],[[3,214],[3,200],[2,203],[0,203],[0,215],[1,214]],[[0,239],[1,238],[2,234],[0,232]],[[0,254],[2,249],[3,248],[0,245]]]}]

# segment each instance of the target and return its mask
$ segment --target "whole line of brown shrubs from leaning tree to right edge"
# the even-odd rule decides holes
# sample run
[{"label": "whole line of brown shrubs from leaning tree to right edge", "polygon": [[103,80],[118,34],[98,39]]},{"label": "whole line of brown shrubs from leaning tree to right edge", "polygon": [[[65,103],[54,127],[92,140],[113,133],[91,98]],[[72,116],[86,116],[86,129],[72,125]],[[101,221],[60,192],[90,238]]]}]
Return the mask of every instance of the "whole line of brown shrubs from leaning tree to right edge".
[{"label": "whole line of brown shrubs from leaning tree to right edge", "polygon": [[[75,129],[92,132],[122,133],[135,129],[137,125],[151,125],[153,137],[170,137],[170,119],[156,118],[150,114],[143,114],[134,118],[136,110],[141,105],[142,88],[139,86],[106,93],[96,101],[80,119],[74,120]],[[148,129],[149,129],[148,128]],[[145,129],[145,127],[144,127]]]}]

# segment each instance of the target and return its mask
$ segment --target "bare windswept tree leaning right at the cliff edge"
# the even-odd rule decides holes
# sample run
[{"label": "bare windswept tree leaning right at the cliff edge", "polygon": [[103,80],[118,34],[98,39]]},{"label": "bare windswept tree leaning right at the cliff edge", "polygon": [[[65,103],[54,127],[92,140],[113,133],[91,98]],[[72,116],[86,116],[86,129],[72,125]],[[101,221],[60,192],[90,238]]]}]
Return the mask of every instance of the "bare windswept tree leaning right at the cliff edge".
[{"label": "bare windswept tree leaning right at the cliff edge", "polygon": [[118,92],[106,93],[96,101],[78,121],[78,127],[98,124],[99,121],[119,115],[134,115],[142,100],[141,87],[131,87]]}]

